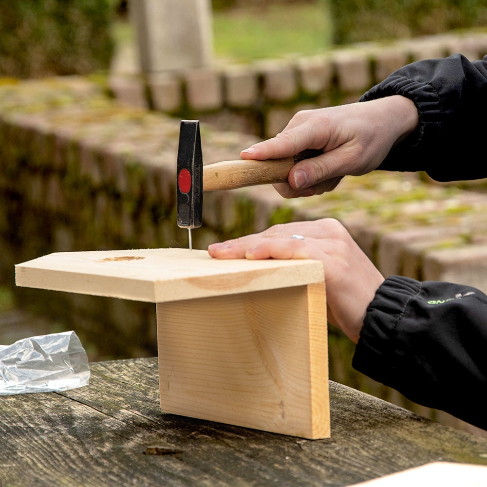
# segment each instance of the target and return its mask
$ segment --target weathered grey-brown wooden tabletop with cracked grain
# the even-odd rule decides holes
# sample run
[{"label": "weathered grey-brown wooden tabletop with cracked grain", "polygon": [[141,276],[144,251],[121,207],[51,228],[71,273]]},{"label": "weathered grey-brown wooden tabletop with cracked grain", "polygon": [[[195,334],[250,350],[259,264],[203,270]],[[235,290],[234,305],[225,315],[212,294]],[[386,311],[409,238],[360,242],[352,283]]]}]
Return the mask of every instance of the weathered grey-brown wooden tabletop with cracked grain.
[{"label": "weathered grey-brown wooden tabletop with cracked grain", "polygon": [[0,486],[348,486],[487,441],[330,383],[331,438],[165,414],[156,358],[91,364],[90,385],[0,397]]}]

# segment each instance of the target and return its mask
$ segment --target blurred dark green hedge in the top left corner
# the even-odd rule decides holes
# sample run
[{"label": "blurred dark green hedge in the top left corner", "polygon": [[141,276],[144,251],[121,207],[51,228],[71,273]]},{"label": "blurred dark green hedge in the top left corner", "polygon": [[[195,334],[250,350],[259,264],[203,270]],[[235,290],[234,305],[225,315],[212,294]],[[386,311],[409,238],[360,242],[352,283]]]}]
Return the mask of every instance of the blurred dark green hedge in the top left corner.
[{"label": "blurred dark green hedge in the top left corner", "polygon": [[110,0],[0,0],[0,75],[88,74],[109,67]]}]

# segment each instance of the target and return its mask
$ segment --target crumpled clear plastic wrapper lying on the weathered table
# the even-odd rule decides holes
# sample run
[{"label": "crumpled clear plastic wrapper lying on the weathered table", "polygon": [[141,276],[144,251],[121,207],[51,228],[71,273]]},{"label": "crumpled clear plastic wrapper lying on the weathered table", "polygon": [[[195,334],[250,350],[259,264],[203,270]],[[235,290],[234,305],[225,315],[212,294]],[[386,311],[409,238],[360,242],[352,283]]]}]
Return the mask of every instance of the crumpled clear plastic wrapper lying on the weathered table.
[{"label": "crumpled clear plastic wrapper lying on the weathered table", "polygon": [[0,345],[0,395],[67,391],[89,379],[88,357],[75,332]]}]

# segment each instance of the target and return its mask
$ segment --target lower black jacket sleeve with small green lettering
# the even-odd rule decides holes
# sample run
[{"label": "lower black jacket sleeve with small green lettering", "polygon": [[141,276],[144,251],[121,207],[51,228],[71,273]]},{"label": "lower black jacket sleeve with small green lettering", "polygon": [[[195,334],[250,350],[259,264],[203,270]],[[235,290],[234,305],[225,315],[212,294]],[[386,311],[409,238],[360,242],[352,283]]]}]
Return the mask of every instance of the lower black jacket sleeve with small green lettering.
[{"label": "lower black jacket sleeve with small green lettering", "polygon": [[487,296],[389,277],[364,321],[353,366],[414,402],[487,429]]}]

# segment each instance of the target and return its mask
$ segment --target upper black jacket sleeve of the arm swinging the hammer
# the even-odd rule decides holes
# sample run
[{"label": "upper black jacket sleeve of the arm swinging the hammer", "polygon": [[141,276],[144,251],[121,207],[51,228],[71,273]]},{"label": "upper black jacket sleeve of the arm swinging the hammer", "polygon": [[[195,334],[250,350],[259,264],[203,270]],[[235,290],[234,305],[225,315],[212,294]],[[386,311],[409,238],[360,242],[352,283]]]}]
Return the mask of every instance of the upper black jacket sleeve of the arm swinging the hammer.
[{"label": "upper black jacket sleeve of the arm swinging the hammer", "polygon": [[393,94],[412,99],[419,127],[378,169],[424,170],[438,181],[487,177],[487,56],[474,62],[459,54],[414,62],[360,100]]}]

